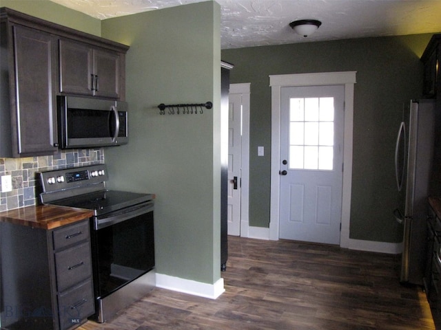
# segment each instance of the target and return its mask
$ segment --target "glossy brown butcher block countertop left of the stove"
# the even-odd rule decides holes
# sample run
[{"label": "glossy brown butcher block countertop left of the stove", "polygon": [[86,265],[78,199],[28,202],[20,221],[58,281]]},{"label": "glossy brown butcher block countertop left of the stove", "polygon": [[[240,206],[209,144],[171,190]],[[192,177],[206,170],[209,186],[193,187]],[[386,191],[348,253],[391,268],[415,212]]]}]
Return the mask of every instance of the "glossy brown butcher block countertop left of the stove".
[{"label": "glossy brown butcher block countertop left of the stove", "polygon": [[67,206],[34,205],[0,212],[0,221],[45,230],[59,228],[92,217],[91,210]]}]

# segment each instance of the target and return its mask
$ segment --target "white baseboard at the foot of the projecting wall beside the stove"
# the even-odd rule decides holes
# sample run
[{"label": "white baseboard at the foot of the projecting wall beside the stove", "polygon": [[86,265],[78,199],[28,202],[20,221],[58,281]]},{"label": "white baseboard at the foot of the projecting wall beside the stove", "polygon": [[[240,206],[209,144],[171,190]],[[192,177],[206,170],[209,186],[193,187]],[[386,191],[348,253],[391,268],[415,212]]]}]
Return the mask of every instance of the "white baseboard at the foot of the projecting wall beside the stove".
[{"label": "white baseboard at the foot of the projecting wall beside the stove", "polygon": [[156,287],[210,299],[216,299],[225,292],[223,278],[219,278],[214,284],[208,284],[157,273]]}]

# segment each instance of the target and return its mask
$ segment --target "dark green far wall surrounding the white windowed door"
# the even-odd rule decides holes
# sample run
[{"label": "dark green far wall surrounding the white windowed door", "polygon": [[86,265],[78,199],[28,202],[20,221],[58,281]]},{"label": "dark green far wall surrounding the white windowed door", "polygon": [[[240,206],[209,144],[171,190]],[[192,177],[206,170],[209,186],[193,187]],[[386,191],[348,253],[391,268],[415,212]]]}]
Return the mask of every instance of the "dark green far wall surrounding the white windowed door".
[{"label": "dark green far wall surrounding the white windowed door", "polygon": [[[230,83],[251,83],[249,225],[269,227],[269,75],[356,71],[350,238],[396,243],[394,148],[404,102],[420,98],[420,56],[431,34],[223,50]],[[265,146],[265,157],[257,157]]]}]

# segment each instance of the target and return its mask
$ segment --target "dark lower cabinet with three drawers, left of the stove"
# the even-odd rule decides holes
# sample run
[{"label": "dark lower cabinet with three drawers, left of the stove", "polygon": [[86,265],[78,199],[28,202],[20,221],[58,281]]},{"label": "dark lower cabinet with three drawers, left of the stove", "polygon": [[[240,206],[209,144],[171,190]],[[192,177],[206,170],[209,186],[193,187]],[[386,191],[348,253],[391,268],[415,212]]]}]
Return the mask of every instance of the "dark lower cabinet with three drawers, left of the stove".
[{"label": "dark lower cabinet with three drawers, left of the stove", "polygon": [[1,328],[67,330],[94,314],[89,219],[1,225]]}]

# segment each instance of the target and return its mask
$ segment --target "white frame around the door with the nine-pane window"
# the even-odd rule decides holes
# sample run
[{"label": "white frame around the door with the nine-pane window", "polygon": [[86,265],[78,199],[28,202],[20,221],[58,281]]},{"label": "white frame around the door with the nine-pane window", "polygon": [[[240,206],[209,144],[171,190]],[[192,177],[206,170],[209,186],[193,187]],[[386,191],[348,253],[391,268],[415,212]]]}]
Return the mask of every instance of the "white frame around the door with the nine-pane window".
[{"label": "white frame around the door with the nine-pane window", "polygon": [[314,74],[281,74],[269,76],[271,87],[271,201],[269,239],[279,238],[280,215],[280,91],[282,87],[345,85],[345,128],[343,142],[342,219],[340,247],[349,248],[351,217],[353,89],[356,72],[322,72]]}]

